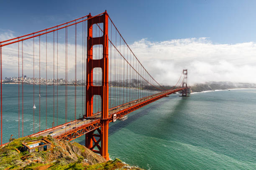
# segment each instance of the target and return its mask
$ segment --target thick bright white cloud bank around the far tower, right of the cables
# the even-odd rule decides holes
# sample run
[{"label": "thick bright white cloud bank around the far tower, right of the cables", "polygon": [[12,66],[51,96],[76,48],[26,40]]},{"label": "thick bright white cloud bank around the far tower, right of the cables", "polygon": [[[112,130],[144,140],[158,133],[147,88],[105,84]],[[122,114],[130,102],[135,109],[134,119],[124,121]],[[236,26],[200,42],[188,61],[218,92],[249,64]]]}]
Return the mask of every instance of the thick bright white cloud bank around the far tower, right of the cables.
[{"label": "thick bright white cloud bank around the far tower, right of the cables", "polygon": [[256,44],[213,44],[208,38],[187,38],[162,42],[147,39],[134,42],[131,49],[162,84],[174,84],[183,68],[188,81],[232,81],[256,83]]}]

